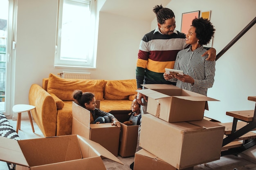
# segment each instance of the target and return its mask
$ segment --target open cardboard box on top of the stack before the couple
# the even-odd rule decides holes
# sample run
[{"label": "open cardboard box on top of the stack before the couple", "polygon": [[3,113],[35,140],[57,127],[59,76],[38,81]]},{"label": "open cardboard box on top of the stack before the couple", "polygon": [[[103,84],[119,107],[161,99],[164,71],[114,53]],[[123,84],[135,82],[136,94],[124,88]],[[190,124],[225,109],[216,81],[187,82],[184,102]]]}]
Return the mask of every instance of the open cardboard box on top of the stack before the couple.
[{"label": "open cardboard box on top of the stack before the couple", "polygon": [[168,122],[202,120],[207,101],[218,101],[170,84],[143,86],[137,92],[148,96],[147,112]]}]

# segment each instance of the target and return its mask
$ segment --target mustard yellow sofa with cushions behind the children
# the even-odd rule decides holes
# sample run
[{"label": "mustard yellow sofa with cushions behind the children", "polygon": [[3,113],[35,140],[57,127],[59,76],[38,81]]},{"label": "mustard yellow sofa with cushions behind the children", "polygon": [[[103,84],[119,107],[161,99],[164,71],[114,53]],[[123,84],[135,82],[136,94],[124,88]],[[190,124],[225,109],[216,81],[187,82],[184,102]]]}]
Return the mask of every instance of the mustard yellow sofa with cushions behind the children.
[{"label": "mustard yellow sofa with cushions behind the children", "polygon": [[63,79],[50,73],[42,87],[32,84],[29,90],[29,104],[36,106],[31,113],[45,137],[71,134],[74,90],[94,93],[100,109],[110,112],[130,110],[137,85],[136,79]]}]

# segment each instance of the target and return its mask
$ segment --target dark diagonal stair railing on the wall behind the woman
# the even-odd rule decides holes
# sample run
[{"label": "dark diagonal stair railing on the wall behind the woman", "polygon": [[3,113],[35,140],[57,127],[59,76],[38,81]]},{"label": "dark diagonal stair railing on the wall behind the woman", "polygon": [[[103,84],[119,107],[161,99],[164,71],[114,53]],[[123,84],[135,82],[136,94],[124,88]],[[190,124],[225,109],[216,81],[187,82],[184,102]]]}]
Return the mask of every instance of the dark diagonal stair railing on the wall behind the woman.
[{"label": "dark diagonal stair railing on the wall behind the woman", "polygon": [[240,32],[238,33],[238,35],[236,35],[236,37],[231,40],[231,42],[229,42],[229,44],[227,44],[224,49],[222,49],[220,51],[220,53],[218,53],[216,55],[216,61],[232,46],[234,45],[237,40],[239,40],[252,26],[254,26],[254,24],[256,23],[256,17],[247,25],[245,26],[245,28]]}]

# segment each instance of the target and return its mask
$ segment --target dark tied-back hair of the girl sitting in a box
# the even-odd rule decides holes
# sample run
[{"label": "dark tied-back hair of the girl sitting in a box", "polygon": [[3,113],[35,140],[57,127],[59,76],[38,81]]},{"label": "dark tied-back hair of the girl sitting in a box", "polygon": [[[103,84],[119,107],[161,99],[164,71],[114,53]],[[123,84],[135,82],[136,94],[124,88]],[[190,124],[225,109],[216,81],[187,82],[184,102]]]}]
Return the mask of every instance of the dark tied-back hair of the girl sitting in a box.
[{"label": "dark tied-back hair of the girl sitting in a box", "polygon": [[76,104],[79,104],[84,108],[85,108],[85,103],[90,104],[93,97],[94,97],[94,94],[90,92],[83,93],[82,91],[76,90],[73,93],[73,98],[75,99],[74,102],[76,102]]}]

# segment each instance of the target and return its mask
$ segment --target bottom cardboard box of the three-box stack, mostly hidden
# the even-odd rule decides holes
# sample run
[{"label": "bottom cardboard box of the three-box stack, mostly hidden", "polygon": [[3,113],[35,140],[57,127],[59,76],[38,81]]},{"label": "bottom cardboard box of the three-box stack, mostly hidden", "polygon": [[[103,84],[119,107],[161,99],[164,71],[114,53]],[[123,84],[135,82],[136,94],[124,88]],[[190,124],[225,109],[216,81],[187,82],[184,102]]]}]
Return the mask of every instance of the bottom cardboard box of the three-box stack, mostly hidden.
[{"label": "bottom cardboard box of the three-box stack, mostly hidden", "polygon": [[[152,153],[141,149],[135,153],[133,170],[177,170]],[[193,166],[183,170],[193,170]]]}]

